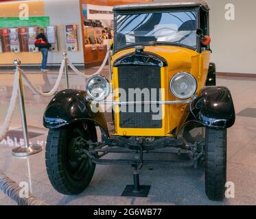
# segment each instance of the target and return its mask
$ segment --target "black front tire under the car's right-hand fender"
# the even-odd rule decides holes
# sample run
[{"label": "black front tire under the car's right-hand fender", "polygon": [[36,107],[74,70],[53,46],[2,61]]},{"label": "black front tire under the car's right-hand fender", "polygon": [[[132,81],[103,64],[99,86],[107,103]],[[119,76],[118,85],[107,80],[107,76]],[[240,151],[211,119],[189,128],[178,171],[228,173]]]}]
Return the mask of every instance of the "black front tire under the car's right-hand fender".
[{"label": "black front tire under the car's right-hand fender", "polygon": [[223,201],[226,184],[226,129],[205,130],[205,193]]}]

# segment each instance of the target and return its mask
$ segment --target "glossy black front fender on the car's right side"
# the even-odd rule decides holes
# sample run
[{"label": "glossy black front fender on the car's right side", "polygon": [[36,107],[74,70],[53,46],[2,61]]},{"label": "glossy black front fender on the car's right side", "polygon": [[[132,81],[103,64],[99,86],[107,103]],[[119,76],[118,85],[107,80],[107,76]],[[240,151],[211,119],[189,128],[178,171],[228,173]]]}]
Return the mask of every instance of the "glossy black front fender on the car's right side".
[{"label": "glossy black front fender on the car's right side", "polygon": [[226,87],[204,88],[191,105],[187,107],[177,132],[186,125],[190,127],[212,127],[227,129],[235,123],[235,108],[231,92]]}]

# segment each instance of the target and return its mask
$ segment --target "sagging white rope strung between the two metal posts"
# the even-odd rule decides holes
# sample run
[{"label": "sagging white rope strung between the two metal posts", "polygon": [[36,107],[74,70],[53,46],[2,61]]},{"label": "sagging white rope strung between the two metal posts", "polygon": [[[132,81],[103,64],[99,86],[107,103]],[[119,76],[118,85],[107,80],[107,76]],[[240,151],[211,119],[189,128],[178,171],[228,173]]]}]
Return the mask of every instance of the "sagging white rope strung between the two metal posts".
[{"label": "sagging white rope strung between the two metal posts", "polygon": [[56,83],[54,84],[54,87],[47,93],[43,93],[38,88],[33,86],[32,82],[30,81],[30,79],[27,78],[27,75],[25,75],[25,72],[23,70],[21,70],[21,76],[26,81],[27,86],[29,86],[29,88],[32,90],[32,92],[35,92],[41,96],[53,96],[56,93],[56,91],[58,90],[58,86],[60,85],[60,81],[61,81],[61,78],[62,78],[62,75],[64,72],[64,68],[65,68],[65,60],[62,60]]}]

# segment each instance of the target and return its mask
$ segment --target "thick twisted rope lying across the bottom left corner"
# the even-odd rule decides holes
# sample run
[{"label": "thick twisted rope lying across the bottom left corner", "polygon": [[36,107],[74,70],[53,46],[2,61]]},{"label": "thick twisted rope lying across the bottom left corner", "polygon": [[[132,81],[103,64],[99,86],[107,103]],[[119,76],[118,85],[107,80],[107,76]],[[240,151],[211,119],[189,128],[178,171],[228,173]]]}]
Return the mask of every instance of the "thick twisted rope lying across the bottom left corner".
[{"label": "thick twisted rope lying across the bottom left corner", "polygon": [[17,183],[12,181],[0,170],[0,190],[4,194],[12,198],[18,205],[49,205],[45,201],[40,201],[38,198],[35,198],[31,193],[27,194],[27,197],[21,198],[20,194],[23,192]]}]

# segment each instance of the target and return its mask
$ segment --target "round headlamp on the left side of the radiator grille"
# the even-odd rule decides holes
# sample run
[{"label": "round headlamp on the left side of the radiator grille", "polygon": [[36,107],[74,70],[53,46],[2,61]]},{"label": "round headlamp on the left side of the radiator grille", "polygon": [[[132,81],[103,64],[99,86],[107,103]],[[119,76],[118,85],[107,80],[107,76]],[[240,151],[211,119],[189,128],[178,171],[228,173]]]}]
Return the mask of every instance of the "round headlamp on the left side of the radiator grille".
[{"label": "round headlamp on the left side of the radiator grille", "polygon": [[90,77],[86,84],[86,92],[91,99],[103,101],[110,92],[108,80],[100,75]]}]

